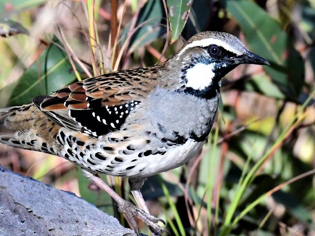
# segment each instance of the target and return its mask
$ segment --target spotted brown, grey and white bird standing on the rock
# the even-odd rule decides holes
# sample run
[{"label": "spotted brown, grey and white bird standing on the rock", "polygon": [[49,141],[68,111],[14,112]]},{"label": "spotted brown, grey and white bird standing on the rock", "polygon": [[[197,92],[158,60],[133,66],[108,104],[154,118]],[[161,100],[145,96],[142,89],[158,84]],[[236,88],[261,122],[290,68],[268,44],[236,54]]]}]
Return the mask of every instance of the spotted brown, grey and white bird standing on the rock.
[{"label": "spotted brown, grey and white bird standing on the rock", "polygon": [[[269,65],[236,36],[204,31],[160,64],[75,82],[0,109],[0,143],[46,152],[79,165],[116,202],[135,234],[135,218],[152,235],[165,222],[149,213],[141,187],[147,177],[196,156],[215,121],[220,81],[240,64]],[[98,174],[128,177],[137,207]]]}]

